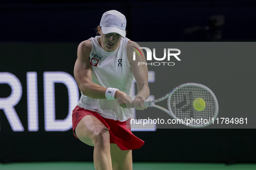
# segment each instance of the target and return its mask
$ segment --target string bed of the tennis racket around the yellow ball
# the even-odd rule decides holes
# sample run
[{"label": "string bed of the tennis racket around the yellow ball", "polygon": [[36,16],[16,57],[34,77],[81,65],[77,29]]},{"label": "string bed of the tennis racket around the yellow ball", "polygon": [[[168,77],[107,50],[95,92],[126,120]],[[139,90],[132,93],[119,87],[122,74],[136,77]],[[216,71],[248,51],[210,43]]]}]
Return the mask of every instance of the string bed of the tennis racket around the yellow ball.
[{"label": "string bed of the tennis racket around the yellow ball", "polygon": [[[205,101],[204,110],[198,111],[194,109],[193,101],[196,98],[202,98]],[[215,101],[211,93],[200,86],[194,85],[178,88],[172,96],[169,97],[168,104],[177,119],[183,121],[194,119],[194,121],[190,121],[191,124],[198,124],[195,120],[211,120],[216,110]],[[202,122],[203,121],[201,121],[201,123]]]}]

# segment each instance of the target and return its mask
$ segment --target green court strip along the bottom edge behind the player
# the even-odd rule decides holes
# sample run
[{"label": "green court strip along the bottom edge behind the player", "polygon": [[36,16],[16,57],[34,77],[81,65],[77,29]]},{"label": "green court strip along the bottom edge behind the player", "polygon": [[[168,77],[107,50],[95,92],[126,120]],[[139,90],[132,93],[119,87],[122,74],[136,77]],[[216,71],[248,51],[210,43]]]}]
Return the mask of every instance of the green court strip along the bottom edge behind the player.
[{"label": "green court strip along the bottom edge behind the player", "polygon": [[[0,170],[95,170],[93,162],[0,164]],[[256,170],[256,164],[133,163],[133,170]]]}]

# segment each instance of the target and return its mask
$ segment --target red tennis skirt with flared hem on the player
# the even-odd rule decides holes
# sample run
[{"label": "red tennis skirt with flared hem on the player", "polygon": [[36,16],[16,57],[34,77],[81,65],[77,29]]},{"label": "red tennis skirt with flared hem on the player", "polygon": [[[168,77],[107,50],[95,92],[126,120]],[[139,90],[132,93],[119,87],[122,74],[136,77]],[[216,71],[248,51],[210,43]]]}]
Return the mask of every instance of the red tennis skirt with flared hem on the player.
[{"label": "red tennis skirt with flared hem on the player", "polygon": [[144,141],[133,135],[131,132],[130,119],[120,122],[118,120],[107,119],[100,116],[100,114],[91,111],[85,110],[79,106],[76,106],[72,113],[72,123],[73,123],[73,135],[75,135],[75,128],[80,122],[80,120],[87,115],[93,115],[101,123],[103,123],[107,129],[109,129],[110,134],[110,143],[115,143],[121,150],[133,150],[142,147]]}]

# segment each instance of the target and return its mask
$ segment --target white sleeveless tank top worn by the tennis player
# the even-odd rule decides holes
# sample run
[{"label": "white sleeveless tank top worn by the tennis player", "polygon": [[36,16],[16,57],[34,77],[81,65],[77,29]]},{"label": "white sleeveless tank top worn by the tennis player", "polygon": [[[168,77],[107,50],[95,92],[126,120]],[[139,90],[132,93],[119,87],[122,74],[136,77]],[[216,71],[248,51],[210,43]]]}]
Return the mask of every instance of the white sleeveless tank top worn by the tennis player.
[{"label": "white sleeveless tank top worn by the tennis player", "polygon": [[[92,82],[106,88],[117,88],[130,95],[133,72],[126,53],[129,39],[121,38],[117,50],[107,52],[100,46],[99,38],[100,36],[90,38]],[[120,107],[116,100],[94,99],[84,94],[81,95],[78,106],[97,112],[105,118],[122,122],[130,119],[133,114],[132,109]]]}]

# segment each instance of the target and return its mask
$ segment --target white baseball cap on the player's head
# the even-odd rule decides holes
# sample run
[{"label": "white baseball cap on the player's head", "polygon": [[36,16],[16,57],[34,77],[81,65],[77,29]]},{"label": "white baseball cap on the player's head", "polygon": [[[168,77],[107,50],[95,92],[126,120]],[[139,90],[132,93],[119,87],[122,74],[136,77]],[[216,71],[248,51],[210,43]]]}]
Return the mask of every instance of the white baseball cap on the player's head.
[{"label": "white baseball cap on the player's head", "polygon": [[103,34],[116,32],[122,35],[122,37],[126,35],[126,18],[116,10],[110,10],[104,13],[100,20],[100,26]]}]

